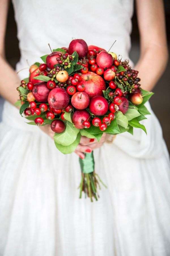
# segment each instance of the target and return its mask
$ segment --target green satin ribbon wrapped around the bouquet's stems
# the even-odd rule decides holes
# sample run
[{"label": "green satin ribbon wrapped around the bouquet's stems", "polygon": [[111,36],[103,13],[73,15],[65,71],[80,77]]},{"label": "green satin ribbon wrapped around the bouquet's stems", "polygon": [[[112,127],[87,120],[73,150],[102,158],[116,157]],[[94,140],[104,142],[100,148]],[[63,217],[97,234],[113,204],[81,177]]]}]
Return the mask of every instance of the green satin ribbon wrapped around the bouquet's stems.
[{"label": "green satin ribbon wrapped around the bouquet's stems", "polygon": [[94,156],[93,151],[91,153],[85,153],[84,159],[79,157],[80,167],[82,173],[94,172]]}]

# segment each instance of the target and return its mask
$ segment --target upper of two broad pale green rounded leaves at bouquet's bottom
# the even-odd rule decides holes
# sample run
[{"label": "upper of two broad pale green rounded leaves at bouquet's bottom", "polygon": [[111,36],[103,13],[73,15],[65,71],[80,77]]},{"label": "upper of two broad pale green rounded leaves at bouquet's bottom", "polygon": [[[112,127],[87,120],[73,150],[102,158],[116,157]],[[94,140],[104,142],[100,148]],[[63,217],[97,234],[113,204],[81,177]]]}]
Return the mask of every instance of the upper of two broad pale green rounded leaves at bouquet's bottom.
[{"label": "upper of two broad pale green rounded leaves at bouquet's bottom", "polygon": [[73,124],[68,121],[66,121],[65,124],[66,124],[66,128],[64,132],[55,133],[54,141],[57,144],[61,144],[63,146],[69,146],[75,141],[76,136],[79,132],[79,129],[73,127]]}]

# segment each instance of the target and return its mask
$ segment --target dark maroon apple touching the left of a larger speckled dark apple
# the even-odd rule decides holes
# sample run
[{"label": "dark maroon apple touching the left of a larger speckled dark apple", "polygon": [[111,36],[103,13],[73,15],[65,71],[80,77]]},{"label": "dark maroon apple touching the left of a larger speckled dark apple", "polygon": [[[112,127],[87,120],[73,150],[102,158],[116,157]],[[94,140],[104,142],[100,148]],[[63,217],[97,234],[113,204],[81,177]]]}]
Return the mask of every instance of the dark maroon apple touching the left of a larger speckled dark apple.
[{"label": "dark maroon apple touching the left of a larger speckled dark apple", "polygon": [[48,94],[50,92],[50,89],[46,87],[46,82],[37,83],[34,85],[32,93],[36,101],[39,102],[47,102],[48,100]]}]

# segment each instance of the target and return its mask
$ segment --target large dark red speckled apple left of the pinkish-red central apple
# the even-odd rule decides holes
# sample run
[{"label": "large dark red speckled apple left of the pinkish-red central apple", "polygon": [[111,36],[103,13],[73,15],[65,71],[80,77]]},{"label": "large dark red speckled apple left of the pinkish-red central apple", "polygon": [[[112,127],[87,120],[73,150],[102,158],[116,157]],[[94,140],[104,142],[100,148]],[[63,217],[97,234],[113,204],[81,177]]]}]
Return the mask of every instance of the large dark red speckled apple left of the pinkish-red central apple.
[{"label": "large dark red speckled apple left of the pinkish-red central apple", "polygon": [[69,104],[69,95],[63,88],[54,88],[48,95],[48,103],[52,108],[63,109]]}]

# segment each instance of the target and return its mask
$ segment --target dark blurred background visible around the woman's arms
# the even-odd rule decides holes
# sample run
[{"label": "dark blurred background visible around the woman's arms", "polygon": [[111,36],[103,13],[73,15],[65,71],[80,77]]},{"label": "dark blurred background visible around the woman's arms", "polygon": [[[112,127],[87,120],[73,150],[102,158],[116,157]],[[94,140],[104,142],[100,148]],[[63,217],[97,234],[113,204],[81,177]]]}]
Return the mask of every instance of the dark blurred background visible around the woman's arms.
[{"label": "dark blurred background visible around the woman's arms", "polygon": [[[170,50],[170,1],[165,0],[165,15],[166,15],[166,27],[167,27],[167,37],[168,37],[168,47]],[[137,26],[137,17],[134,11],[132,18],[133,29],[131,33],[132,48],[130,52],[131,60],[136,63],[139,58],[139,31]],[[7,33],[5,38],[5,51],[8,62],[15,68],[16,63],[20,58],[20,51],[18,48],[18,40],[16,37],[16,23],[14,20],[14,11],[12,4],[10,3],[9,12],[8,12],[8,21],[7,21]],[[153,61],[156,60],[156,56],[153,56]],[[152,109],[154,110],[156,116],[158,117],[162,129],[163,136],[166,141],[167,147],[170,152],[170,79],[169,79],[169,69],[170,69],[170,60],[168,62],[165,73],[161,77],[160,81],[154,88],[154,96],[150,100]],[[166,92],[166,93],[165,93]],[[161,102],[159,100],[161,99]],[[0,97],[0,121],[1,121],[1,112],[3,109],[3,99]]]}]

